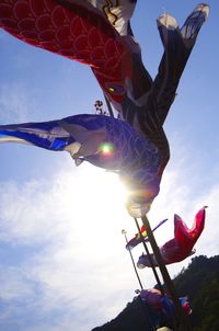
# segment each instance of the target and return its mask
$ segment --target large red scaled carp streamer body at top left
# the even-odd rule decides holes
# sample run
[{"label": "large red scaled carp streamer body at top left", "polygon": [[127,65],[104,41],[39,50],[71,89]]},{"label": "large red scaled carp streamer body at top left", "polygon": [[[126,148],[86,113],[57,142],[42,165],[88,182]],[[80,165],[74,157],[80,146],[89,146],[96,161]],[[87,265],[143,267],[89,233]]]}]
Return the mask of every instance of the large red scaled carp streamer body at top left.
[{"label": "large red scaled carp streamer body at top left", "polygon": [[91,66],[105,93],[120,102],[131,60],[123,38],[92,5],[57,2],[1,0],[0,27],[31,45]]}]

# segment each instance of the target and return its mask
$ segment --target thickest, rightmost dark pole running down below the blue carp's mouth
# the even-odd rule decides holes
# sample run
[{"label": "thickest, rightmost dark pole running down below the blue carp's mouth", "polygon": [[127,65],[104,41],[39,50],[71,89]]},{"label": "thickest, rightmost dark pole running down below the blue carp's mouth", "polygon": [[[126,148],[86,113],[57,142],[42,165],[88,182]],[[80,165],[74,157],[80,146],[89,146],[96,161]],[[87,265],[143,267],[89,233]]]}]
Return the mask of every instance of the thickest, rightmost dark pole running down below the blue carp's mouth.
[{"label": "thickest, rightmost dark pole running down below the blue carp's mouth", "polygon": [[148,235],[148,238],[149,238],[149,242],[151,244],[151,248],[153,250],[153,254],[155,256],[155,260],[158,262],[159,269],[160,269],[161,274],[163,276],[163,281],[165,283],[165,286],[166,286],[166,288],[168,288],[168,290],[170,293],[170,296],[171,296],[171,298],[173,300],[173,304],[175,306],[176,313],[178,315],[180,321],[181,321],[184,330],[192,331],[191,324],[189,324],[189,322],[188,322],[188,320],[187,320],[187,318],[186,318],[186,316],[185,316],[185,313],[183,311],[183,308],[181,307],[180,300],[178,300],[178,298],[176,296],[175,287],[174,287],[173,282],[171,279],[169,273],[168,273],[168,270],[166,270],[165,264],[163,262],[163,259],[161,256],[159,247],[158,247],[158,244],[155,242],[155,239],[154,239],[154,236],[153,236],[153,233],[151,231],[151,227],[150,227],[150,224],[149,224],[149,220],[148,220],[147,216],[141,217],[141,220],[142,220],[142,222],[145,225],[145,228],[146,228],[146,231],[147,231],[147,235]]}]

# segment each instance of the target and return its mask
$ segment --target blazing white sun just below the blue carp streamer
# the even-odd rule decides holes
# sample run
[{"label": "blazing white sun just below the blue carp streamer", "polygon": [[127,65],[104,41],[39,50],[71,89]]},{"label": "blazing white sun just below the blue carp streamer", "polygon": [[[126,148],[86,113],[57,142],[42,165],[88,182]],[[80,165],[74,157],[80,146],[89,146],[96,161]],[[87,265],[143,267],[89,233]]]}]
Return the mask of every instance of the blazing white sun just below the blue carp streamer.
[{"label": "blazing white sun just below the blue carp streamer", "polygon": [[60,181],[61,205],[74,218],[88,215],[114,215],[117,218],[127,213],[126,187],[116,173],[84,162],[72,172],[64,173]]}]

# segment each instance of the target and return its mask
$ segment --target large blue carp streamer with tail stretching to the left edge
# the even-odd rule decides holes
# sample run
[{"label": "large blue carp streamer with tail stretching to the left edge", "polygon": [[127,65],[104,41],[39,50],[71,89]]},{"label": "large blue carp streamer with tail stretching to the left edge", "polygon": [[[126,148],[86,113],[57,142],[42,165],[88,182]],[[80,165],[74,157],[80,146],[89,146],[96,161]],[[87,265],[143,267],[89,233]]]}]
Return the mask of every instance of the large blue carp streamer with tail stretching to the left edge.
[{"label": "large blue carp streamer with tail stretching to the left edge", "polygon": [[[77,132],[78,128],[80,134]],[[92,144],[92,137],[95,138],[96,132],[100,130],[104,137],[101,144],[111,144],[112,152],[107,157],[101,151],[93,152],[85,155],[84,160],[96,167],[117,171],[131,190],[147,191],[146,197],[145,195],[140,197],[141,202],[147,201],[147,196],[152,201],[159,192],[161,156],[152,142],[142,138],[128,123],[120,119],[83,114],[59,121],[2,125],[0,142],[1,138],[8,136],[21,138],[41,148],[64,150],[77,141],[77,135],[81,139],[78,142],[83,147],[89,133]],[[136,198],[138,199],[138,195]]]}]

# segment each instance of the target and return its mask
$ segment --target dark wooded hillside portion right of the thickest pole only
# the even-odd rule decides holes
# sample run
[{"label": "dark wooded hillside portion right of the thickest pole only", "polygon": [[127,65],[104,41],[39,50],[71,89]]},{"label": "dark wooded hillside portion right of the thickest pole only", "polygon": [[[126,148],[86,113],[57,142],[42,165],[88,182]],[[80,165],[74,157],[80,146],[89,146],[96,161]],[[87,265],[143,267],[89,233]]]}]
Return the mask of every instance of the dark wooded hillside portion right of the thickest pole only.
[{"label": "dark wooded hillside portion right of the thickest pole only", "polygon": [[178,296],[187,295],[193,308],[194,331],[219,330],[219,255],[192,259],[174,279]]}]

